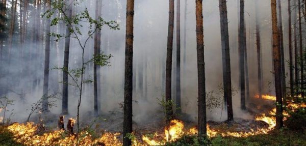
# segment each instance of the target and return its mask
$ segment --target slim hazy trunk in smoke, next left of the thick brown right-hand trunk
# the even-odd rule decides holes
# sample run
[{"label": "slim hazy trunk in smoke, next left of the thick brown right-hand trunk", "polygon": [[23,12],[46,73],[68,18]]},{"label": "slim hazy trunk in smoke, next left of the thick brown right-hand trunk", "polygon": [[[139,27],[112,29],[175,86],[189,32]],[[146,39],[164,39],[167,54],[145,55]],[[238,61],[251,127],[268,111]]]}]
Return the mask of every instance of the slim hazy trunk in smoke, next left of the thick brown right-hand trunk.
[{"label": "slim hazy trunk in smoke, next left of the thick brown right-hand trunk", "polygon": [[262,99],[262,64],[261,64],[261,40],[260,40],[260,18],[258,10],[258,1],[256,1],[256,46],[257,46],[257,67],[258,67],[258,94]]}]

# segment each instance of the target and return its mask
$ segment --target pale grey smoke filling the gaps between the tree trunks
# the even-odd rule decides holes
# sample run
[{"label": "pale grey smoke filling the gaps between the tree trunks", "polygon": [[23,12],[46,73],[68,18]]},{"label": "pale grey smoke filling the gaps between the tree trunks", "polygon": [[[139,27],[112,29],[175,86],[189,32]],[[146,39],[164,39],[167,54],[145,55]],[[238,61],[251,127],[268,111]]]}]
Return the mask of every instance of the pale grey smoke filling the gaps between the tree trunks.
[{"label": "pale grey smoke filling the gaps between the tree trunks", "polygon": [[[274,93],[274,87],[269,89],[269,82],[272,82],[272,59],[271,59],[271,14],[270,2],[257,0],[260,5],[260,28],[261,28],[261,47],[262,47],[262,63],[263,63],[263,93]],[[251,0],[245,1],[245,21],[247,35],[247,55],[249,69],[250,96],[258,93],[257,79],[257,52],[255,39],[255,2]],[[123,102],[123,85],[124,85],[124,49],[125,49],[125,13],[126,2],[123,0],[103,1],[102,17],[109,21],[115,20],[120,24],[120,30],[113,31],[108,27],[104,27],[101,31],[101,50],[113,57],[110,60],[109,67],[100,68],[100,84],[99,84],[99,100],[100,113],[107,114],[109,111],[122,112],[119,103]],[[288,28],[285,23],[288,19],[286,15],[287,3],[282,2],[284,30]],[[134,75],[135,89],[133,91],[133,118],[136,122],[143,122],[148,119],[155,118],[156,115],[162,115],[157,98],[161,99],[163,90],[163,72],[165,71],[165,54],[167,46],[168,32],[168,1],[135,1],[135,17],[134,17]],[[181,36],[184,35],[184,7],[185,1],[181,0]],[[74,12],[78,13],[88,8],[90,15],[95,15],[95,1],[87,0],[80,6],[75,6]],[[285,9],[286,8],[286,9]],[[227,1],[228,10],[228,27],[230,34],[231,48],[231,71],[232,85],[235,89],[239,87],[239,66],[238,66],[238,9],[237,0]],[[175,10],[176,11],[176,10]],[[31,14],[34,15],[34,14]],[[45,18],[41,19],[43,23]],[[219,92],[218,85],[222,83],[222,62],[221,62],[221,37],[220,37],[220,16],[219,2],[215,0],[203,1],[203,26],[205,40],[205,63],[206,63],[206,90]],[[52,26],[51,32],[61,32],[62,24]],[[87,32],[87,24],[82,27],[82,32]],[[35,28],[33,19],[28,20],[28,35]],[[175,29],[174,29],[175,30]],[[44,32],[41,27],[39,33]],[[288,36],[284,31],[284,38]],[[174,31],[175,33],[175,31]],[[83,33],[85,38],[87,33]],[[2,64],[2,73],[4,74],[0,82],[2,87],[7,90],[7,95],[14,99],[15,105],[11,109],[15,109],[13,121],[23,122],[27,113],[26,109],[31,108],[31,103],[38,101],[42,97],[43,83],[43,61],[44,61],[44,37],[36,42],[26,42],[24,46],[19,47],[19,37],[15,34],[13,40],[12,56],[9,63]],[[50,68],[63,66],[64,39],[55,42],[52,38],[50,51]],[[175,35],[174,35],[175,39]],[[181,61],[184,57],[183,38],[181,39]],[[284,39],[287,40],[287,39]],[[84,41],[84,40],[83,40]],[[93,54],[93,39],[90,39],[85,49],[85,59],[89,60]],[[285,41],[285,50],[287,50]],[[175,41],[173,43],[173,64],[172,70],[175,69],[176,51]],[[23,53],[20,52],[22,48]],[[75,39],[70,42],[69,68],[75,69],[81,66],[81,48]],[[4,53],[7,53],[4,52]],[[288,52],[285,52],[286,59]],[[8,59],[8,57],[5,57]],[[3,59],[2,61],[4,61]],[[144,64],[147,65],[147,72],[144,74]],[[193,120],[197,116],[197,62],[196,62],[196,33],[195,33],[195,3],[187,0],[187,48],[186,48],[186,64],[181,63],[181,87],[182,87],[182,111],[190,114]],[[173,72],[173,71],[172,71]],[[88,65],[86,68],[86,78],[93,77],[93,66]],[[144,97],[144,83],[142,80],[147,78],[147,97]],[[50,70],[49,75],[49,94],[53,92],[61,93],[62,73],[58,70]],[[71,79],[69,79],[71,81]],[[141,86],[139,86],[141,85]],[[175,100],[175,78],[172,73],[173,92],[172,98]],[[71,116],[76,115],[78,90],[68,87],[68,110]],[[271,92],[271,91],[272,92]],[[24,94],[24,101],[20,99],[20,94]],[[84,96],[81,104],[81,119],[83,115],[93,111],[93,84],[86,84],[84,88]],[[239,90],[238,90],[239,91]],[[1,93],[6,93],[3,90]],[[61,97],[61,95],[59,95]],[[218,95],[215,95],[218,96]],[[61,100],[58,101],[58,107],[51,109],[53,113],[61,112]],[[240,110],[240,93],[233,97],[233,107],[235,118],[250,118],[250,115]],[[222,116],[221,116],[222,112]],[[209,120],[222,121],[226,119],[226,111],[223,109],[208,110]],[[86,120],[86,119],[84,119]]]}]

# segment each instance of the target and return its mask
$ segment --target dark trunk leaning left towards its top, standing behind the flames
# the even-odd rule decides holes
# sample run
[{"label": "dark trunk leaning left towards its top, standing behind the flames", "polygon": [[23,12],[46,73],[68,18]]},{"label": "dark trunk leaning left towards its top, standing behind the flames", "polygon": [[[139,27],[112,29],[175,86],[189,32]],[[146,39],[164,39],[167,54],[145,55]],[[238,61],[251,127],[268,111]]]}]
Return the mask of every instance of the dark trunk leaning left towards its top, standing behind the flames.
[{"label": "dark trunk leaning left towards its top, standing behind the flames", "polygon": [[222,65],[223,65],[223,89],[224,99],[227,101],[227,121],[234,120],[232,104],[232,78],[231,78],[231,59],[230,59],[230,41],[228,35],[228,19],[226,0],[219,0],[220,10],[220,28],[222,45]]}]

